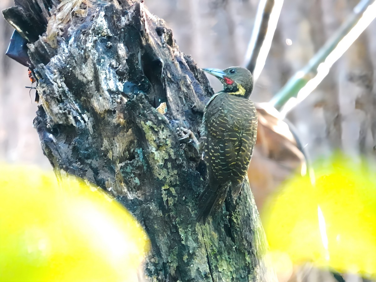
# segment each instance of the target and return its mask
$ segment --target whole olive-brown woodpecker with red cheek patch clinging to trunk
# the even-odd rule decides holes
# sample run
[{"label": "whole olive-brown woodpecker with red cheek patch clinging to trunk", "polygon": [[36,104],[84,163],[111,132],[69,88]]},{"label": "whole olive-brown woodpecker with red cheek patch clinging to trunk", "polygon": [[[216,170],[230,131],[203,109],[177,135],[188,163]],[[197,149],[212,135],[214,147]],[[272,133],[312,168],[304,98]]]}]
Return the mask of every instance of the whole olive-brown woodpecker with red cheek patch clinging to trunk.
[{"label": "whole olive-brown woodpecker with red cheek patch clinging to trunk", "polygon": [[208,186],[199,197],[199,218],[205,220],[221,208],[229,187],[234,198],[240,193],[256,143],[257,115],[249,100],[253,89],[249,70],[203,70],[223,85],[206,104],[201,126],[203,159],[209,174]]}]

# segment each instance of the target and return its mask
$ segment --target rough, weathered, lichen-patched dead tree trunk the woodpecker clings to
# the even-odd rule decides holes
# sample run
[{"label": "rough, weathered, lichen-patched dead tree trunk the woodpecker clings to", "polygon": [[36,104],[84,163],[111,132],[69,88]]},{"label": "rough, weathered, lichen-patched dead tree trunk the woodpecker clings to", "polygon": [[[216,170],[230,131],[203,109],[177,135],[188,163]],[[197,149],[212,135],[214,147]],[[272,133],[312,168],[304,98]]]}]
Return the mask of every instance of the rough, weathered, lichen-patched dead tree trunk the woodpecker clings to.
[{"label": "rough, weathered, lichen-patched dead tree trunk the woodpecker clings to", "polygon": [[[57,0],[15,2],[3,14],[30,42],[42,149],[57,173],[109,191],[144,226],[147,279],[274,281],[248,183],[235,203],[197,222],[206,168],[177,128],[198,134],[213,91],[164,21],[131,0],[57,10]],[[62,8],[70,12],[59,23]],[[58,26],[46,34],[52,16]]]}]

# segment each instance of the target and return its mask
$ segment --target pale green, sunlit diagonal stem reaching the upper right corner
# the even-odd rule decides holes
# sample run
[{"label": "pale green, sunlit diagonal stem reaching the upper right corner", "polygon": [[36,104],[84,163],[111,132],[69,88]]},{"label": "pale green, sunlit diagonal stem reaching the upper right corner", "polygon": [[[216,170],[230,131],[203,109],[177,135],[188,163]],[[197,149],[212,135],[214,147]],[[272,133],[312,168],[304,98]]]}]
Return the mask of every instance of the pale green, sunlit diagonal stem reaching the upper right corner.
[{"label": "pale green, sunlit diagonal stem reaching the upper right corner", "polygon": [[294,74],[285,86],[270,100],[277,110],[293,102],[284,109],[284,113],[302,102],[329,73],[331,66],[343,55],[365,28],[376,17],[375,0],[361,0],[353,9],[345,23],[329,38],[308,64]]}]

